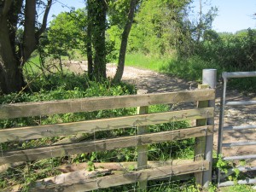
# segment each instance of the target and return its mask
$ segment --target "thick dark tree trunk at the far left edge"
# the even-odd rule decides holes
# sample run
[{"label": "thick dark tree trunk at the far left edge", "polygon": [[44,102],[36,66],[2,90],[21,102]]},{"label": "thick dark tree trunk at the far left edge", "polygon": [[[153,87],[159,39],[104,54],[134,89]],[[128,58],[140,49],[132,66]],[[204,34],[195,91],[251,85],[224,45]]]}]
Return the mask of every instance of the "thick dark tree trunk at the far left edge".
[{"label": "thick dark tree trunk at the far left edge", "polygon": [[6,16],[0,15],[0,92],[3,94],[22,89],[24,79],[19,63],[9,40]]}]

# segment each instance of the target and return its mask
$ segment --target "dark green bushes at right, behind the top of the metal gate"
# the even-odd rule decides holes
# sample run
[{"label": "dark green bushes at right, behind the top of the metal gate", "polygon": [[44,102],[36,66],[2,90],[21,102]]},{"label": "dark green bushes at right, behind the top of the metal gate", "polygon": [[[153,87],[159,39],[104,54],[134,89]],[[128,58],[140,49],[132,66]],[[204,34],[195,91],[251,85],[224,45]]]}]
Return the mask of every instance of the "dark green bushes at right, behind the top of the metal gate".
[{"label": "dark green bushes at right, behind the top of the metal gate", "polygon": [[[254,71],[256,66],[256,30],[217,33],[208,31],[207,37],[195,51],[200,60],[218,69],[218,72]],[[233,88],[254,91],[256,79],[230,79]]]}]

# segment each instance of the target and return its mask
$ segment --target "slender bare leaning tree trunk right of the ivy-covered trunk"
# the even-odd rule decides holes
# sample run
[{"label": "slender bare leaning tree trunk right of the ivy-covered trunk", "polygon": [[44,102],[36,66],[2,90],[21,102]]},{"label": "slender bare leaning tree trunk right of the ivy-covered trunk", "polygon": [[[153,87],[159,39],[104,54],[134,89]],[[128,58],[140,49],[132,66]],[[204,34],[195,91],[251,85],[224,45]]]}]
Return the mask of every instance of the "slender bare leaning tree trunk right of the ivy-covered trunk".
[{"label": "slender bare leaning tree trunk right of the ivy-covered trunk", "polygon": [[119,83],[124,73],[127,42],[128,42],[129,33],[131,31],[131,24],[133,21],[136,4],[137,4],[137,0],[131,0],[128,20],[126,21],[125,29],[124,29],[124,32],[122,33],[122,41],[121,41],[121,46],[119,50],[119,63],[113,78],[113,83]]}]

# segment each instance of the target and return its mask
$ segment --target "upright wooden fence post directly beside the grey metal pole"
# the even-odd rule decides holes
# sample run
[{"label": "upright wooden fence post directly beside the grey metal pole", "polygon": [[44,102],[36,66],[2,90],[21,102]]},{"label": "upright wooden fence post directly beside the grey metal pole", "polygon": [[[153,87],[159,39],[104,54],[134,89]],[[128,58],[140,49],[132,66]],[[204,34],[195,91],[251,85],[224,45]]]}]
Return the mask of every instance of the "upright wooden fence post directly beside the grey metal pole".
[{"label": "upright wooden fence post directly beside the grey metal pole", "polygon": [[[198,89],[209,89],[208,84],[199,84]],[[209,101],[197,102],[197,108],[207,108]],[[208,117],[207,117],[208,118]],[[196,119],[196,126],[207,125],[207,119]],[[206,136],[195,138],[195,158],[194,160],[204,160],[206,150]],[[195,183],[203,185],[203,172],[195,172]]]}]

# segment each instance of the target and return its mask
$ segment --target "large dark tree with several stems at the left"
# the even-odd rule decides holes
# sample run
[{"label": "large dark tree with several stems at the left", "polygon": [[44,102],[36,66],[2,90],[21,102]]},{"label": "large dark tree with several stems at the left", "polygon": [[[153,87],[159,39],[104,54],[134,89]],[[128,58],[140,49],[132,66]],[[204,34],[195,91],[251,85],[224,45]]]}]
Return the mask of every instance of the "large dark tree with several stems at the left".
[{"label": "large dark tree with several stems at the left", "polygon": [[[37,49],[46,29],[52,0],[0,1],[0,91],[19,91],[25,84],[22,67]],[[37,8],[44,7],[42,24],[37,22]],[[18,32],[19,31],[19,32]]]}]

